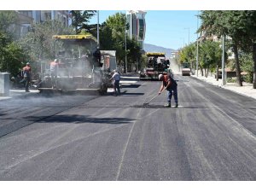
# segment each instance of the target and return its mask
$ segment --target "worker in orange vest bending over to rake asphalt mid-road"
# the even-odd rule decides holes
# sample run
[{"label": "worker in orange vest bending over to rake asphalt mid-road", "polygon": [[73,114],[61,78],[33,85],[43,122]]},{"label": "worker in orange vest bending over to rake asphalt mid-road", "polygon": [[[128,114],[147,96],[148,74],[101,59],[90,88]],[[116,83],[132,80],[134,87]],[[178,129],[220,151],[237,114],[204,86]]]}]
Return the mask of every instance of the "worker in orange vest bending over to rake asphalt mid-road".
[{"label": "worker in orange vest bending over to rake asphalt mid-road", "polygon": [[163,90],[168,91],[166,108],[171,108],[172,93],[175,101],[175,108],[177,108],[177,82],[172,79],[172,74],[160,74],[158,77],[163,83],[160,86],[159,95]]}]

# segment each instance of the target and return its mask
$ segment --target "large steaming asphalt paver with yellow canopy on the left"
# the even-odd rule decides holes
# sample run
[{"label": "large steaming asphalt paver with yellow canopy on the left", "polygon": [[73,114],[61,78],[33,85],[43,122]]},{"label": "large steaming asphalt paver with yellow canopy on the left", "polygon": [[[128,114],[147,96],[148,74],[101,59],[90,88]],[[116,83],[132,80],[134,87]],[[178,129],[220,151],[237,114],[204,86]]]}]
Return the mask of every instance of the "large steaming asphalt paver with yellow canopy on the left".
[{"label": "large steaming asphalt paver with yellow canopy on the left", "polygon": [[53,38],[57,75],[52,79],[49,63],[46,63],[40,74],[38,90],[106,94],[111,81],[102,69],[96,38],[91,35],[55,35]]}]

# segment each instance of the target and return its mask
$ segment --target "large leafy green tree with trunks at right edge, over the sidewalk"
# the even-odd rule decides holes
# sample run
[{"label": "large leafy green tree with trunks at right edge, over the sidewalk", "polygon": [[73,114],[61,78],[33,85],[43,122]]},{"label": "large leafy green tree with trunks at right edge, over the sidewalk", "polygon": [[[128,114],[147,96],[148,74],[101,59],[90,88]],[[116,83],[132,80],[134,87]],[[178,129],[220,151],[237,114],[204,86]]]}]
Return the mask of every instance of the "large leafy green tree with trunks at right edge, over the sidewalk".
[{"label": "large leafy green tree with trunks at right edge, over the sidewalk", "polygon": [[199,31],[207,35],[227,35],[231,40],[230,47],[235,54],[236,81],[241,84],[241,67],[239,52],[253,53],[253,88],[256,89],[256,11],[202,11],[202,25]]}]

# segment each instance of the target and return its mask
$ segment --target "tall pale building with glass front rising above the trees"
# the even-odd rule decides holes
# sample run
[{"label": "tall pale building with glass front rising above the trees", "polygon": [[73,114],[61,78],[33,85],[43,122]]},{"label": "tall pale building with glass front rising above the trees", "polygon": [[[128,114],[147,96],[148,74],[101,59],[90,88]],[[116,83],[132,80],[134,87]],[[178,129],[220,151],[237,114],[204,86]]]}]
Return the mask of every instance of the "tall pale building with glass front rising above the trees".
[{"label": "tall pale building with glass front rising above the trees", "polygon": [[144,49],[144,39],[146,33],[146,13],[147,12],[142,10],[126,11],[126,22],[130,26],[129,30],[127,31],[128,37],[137,39],[142,50]]}]

